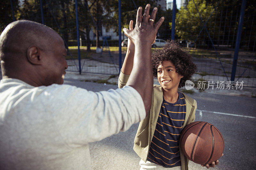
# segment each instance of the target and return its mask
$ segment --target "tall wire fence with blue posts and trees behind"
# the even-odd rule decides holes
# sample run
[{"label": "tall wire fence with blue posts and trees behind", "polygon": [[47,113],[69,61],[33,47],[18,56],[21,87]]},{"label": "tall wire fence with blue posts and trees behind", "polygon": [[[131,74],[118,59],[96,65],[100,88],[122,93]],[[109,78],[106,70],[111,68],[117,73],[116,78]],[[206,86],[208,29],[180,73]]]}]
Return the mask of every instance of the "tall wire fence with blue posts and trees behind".
[{"label": "tall wire fence with blue posts and trees behind", "polygon": [[13,20],[43,23],[65,41],[68,71],[118,75],[127,49],[127,37],[119,31],[119,24],[122,29],[134,20],[135,26],[138,7],[151,4],[151,11],[158,8],[156,21],[165,17],[152,50],[173,38],[189,50],[197,64],[194,80],[239,81],[256,87],[256,1],[176,0],[173,8],[174,2],[2,0],[0,32]]}]

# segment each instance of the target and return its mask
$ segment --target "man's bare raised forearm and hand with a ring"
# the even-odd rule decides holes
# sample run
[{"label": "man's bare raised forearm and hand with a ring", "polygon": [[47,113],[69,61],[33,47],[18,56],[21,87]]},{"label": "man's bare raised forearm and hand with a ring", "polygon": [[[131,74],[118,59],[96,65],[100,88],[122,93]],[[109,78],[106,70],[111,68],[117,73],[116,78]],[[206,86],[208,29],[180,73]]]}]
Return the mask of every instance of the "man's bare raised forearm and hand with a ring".
[{"label": "man's bare raised forearm and hand with a ring", "polygon": [[135,45],[133,68],[126,85],[132,86],[140,93],[147,114],[151,107],[153,90],[151,43],[156,37],[158,28],[164,21],[164,17],[162,17],[154,26],[157,8],[154,8],[150,18],[148,17],[149,9],[150,4],[147,4],[142,17],[142,7],[139,7],[135,28],[132,31],[124,28],[125,35]]}]

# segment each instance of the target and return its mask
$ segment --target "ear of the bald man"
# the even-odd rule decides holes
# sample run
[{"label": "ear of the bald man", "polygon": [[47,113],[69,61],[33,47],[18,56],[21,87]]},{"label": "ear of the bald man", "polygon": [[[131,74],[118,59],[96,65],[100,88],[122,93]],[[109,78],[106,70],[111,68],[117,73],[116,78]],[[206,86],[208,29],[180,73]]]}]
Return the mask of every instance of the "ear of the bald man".
[{"label": "ear of the bald man", "polygon": [[41,65],[42,64],[42,52],[41,50],[36,46],[30,46],[27,50],[27,59],[28,62],[33,65]]}]

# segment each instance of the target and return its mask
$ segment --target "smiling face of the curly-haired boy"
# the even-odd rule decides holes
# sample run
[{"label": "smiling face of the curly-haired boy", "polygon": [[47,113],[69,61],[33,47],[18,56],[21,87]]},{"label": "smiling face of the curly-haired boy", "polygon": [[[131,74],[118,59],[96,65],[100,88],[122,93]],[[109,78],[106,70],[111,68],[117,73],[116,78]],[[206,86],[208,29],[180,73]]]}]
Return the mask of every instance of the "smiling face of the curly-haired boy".
[{"label": "smiling face of the curly-haired boy", "polygon": [[183,76],[176,72],[175,66],[170,61],[163,61],[163,63],[157,67],[158,82],[165,90],[178,90],[181,78],[183,78]]}]

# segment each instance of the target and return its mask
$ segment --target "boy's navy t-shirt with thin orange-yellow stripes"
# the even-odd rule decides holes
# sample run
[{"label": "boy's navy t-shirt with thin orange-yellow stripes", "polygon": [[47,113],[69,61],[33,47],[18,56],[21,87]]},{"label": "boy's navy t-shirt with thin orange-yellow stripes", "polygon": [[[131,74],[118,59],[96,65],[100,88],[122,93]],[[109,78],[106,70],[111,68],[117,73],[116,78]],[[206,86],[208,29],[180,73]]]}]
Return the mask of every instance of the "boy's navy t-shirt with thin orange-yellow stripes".
[{"label": "boy's navy t-shirt with thin orange-yellow stripes", "polygon": [[175,103],[163,100],[150,144],[148,161],[163,167],[180,166],[179,139],[186,116],[186,102],[181,92]]}]

